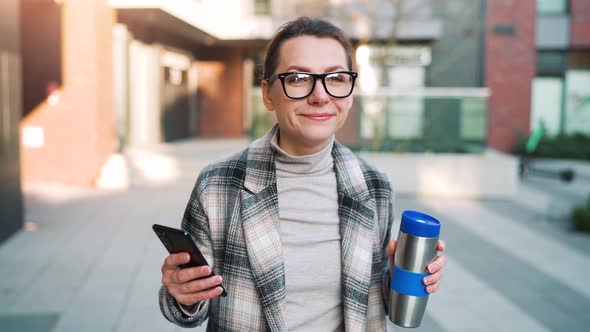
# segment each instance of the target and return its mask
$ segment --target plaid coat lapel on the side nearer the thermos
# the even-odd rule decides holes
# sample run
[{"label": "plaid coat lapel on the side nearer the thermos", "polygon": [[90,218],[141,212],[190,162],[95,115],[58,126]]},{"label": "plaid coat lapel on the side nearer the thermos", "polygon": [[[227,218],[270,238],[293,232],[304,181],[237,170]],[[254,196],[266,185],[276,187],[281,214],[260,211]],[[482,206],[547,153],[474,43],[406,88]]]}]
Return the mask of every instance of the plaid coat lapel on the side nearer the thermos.
[{"label": "plaid coat lapel on the side nearer the thermos", "polygon": [[375,199],[369,194],[359,160],[334,143],[338,215],[342,251],[344,324],[347,331],[366,330],[371,282]]}]

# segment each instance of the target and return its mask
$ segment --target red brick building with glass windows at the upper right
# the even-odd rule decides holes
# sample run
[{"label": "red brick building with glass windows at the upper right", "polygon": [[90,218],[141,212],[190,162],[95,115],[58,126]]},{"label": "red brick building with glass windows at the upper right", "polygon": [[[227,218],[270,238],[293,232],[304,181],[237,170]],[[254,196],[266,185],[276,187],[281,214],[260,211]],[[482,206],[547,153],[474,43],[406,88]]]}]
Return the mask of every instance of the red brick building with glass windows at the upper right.
[{"label": "red brick building with glass windows at the upper right", "polygon": [[512,152],[541,121],[549,135],[590,135],[578,101],[590,95],[590,1],[488,0],[486,13],[488,145]]}]

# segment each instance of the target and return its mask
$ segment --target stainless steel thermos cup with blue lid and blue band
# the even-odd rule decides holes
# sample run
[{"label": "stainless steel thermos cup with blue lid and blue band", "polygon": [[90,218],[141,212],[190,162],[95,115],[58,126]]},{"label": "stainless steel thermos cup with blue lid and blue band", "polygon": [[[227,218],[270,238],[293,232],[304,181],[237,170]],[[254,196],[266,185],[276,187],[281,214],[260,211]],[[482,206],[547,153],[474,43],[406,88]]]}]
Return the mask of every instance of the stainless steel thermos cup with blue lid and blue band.
[{"label": "stainless steel thermos cup with blue lid and blue band", "polygon": [[436,257],[440,222],[416,211],[404,211],[395,251],[389,292],[389,319],[402,327],[418,327],[428,303],[422,279]]}]

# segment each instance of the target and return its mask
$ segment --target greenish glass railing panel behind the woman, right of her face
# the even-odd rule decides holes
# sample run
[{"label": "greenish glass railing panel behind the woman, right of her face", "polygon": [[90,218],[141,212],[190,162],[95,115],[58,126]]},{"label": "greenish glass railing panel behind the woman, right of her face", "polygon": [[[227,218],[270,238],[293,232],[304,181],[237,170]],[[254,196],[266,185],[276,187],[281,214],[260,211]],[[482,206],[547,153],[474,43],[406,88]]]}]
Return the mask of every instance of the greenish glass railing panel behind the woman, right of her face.
[{"label": "greenish glass railing panel behind the woman, right of her face", "polygon": [[479,153],[485,149],[484,95],[356,98],[360,101],[361,150]]}]

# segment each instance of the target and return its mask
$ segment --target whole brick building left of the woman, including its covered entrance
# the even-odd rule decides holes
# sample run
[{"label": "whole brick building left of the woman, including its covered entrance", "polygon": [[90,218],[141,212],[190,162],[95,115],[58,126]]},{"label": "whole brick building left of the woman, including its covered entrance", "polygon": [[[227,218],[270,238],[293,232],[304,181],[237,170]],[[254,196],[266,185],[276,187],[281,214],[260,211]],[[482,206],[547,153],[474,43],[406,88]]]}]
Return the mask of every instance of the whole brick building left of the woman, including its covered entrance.
[{"label": "whole brick building left of the woman, including its covered entrance", "polygon": [[125,145],[245,135],[244,60],[263,42],[111,5],[20,2],[25,184],[93,186]]}]

